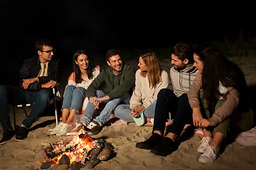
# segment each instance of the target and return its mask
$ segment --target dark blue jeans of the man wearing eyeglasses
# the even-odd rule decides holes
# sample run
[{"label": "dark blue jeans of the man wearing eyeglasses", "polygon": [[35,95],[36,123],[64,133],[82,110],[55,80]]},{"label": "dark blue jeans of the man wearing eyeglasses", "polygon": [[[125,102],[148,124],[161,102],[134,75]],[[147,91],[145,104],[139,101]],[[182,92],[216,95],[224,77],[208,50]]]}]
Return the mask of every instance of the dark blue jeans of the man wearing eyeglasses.
[{"label": "dark blue jeans of the man wearing eyeglasses", "polygon": [[4,130],[11,129],[9,116],[9,103],[12,105],[34,103],[31,113],[23,120],[26,128],[31,128],[32,123],[45,111],[50,102],[51,92],[49,89],[40,91],[24,91],[14,86],[0,86],[0,122]]}]

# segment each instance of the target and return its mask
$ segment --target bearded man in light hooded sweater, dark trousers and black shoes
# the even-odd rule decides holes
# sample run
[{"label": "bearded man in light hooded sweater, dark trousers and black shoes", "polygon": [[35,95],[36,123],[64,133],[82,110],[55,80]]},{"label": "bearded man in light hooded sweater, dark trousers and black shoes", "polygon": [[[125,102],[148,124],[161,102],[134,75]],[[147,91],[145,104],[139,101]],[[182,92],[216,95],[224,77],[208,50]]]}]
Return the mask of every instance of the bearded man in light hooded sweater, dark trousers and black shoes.
[{"label": "bearded man in light hooded sweater, dark trousers and black shoes", "polygon": [[[171,50],[171,89],[161,89],[157,95],[154,115],[154,127],[151,137],[138,142],[136,147],[151,149],[151,152],[163,157],[174,152],[178,136],[186,123],[193,125],[192,110],[188,103],[187,92],[196,77],[197,69],[193,67],[193,47],[186,42],[179,42]],[[164,134],[166,119],[174,118],[170,128]]]}]

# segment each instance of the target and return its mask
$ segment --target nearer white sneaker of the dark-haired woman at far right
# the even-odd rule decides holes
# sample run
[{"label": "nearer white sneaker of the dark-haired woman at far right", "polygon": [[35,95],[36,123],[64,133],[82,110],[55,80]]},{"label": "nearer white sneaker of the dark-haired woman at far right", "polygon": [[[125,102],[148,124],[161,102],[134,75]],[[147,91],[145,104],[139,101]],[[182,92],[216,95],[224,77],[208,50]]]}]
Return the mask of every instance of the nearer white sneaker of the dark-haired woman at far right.
[{"label": "nearer white sneaker of the dark-haired woman at far right", "polygon": [[199,157],[198,162],[209,164],[220,157],[220,151],[213,146],[206,147],[206,151]]}]

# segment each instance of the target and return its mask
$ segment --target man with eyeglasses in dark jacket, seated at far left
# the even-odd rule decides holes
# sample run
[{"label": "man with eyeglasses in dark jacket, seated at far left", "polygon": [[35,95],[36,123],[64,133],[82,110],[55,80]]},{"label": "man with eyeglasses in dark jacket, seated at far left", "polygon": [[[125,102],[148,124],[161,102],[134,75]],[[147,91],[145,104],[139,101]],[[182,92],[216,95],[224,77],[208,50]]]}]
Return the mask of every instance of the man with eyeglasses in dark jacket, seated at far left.
[{"label": "man with eyeglasses in dark jacket, seated at far left", "polygon": [[51,90],[60,79],[59,60],[53,60],[53,44],[42,38],[36,41],[38,56],[24,60],[20,69],[18,86],[0,86],[0,122],[4,130],[0,145],[14,137],[9,117],[9,103],[13,105],[33,103],[31,113],[16,130],[16,141],[28,136],[32,123],[45,111]]}]

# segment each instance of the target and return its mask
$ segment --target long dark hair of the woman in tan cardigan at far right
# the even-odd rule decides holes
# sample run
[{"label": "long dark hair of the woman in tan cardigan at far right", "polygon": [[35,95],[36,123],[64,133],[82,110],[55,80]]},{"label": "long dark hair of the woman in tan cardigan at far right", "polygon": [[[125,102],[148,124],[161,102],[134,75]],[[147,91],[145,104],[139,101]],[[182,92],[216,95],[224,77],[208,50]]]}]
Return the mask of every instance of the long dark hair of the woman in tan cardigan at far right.
[{"label": "long dark hair of the woman in tan cardigan at far right", "polygon": [[204,44],[195,51],[203,62],[202,89],[208,107],[212,110],[217,102],[215,94],[223,96],[218,91],[219,82],[225,87],[233,87],[240,94],[240,102],[247,97],[245,77],[238,65],[230,62],[216,47]]}]

